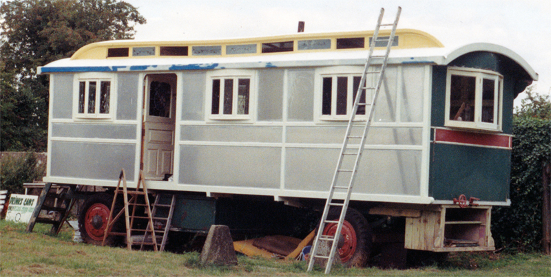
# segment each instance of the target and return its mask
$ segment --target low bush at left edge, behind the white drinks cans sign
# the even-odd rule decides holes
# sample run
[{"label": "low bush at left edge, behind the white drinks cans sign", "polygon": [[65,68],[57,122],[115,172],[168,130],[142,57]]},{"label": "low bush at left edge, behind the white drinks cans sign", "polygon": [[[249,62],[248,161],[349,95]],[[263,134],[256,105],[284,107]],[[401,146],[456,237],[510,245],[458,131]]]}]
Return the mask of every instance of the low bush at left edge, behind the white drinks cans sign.
[{"label": "low bush at left edge, behind the white drinks cans sign", "polygon": [[32,152],[17,157],[6,155],[0,165],[0,190],[12,193],[23,193],[23,183],[31,183],[44,176],[45,164],[38,165],[37,157]]}]

